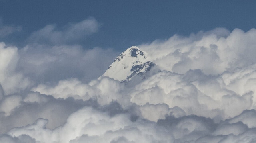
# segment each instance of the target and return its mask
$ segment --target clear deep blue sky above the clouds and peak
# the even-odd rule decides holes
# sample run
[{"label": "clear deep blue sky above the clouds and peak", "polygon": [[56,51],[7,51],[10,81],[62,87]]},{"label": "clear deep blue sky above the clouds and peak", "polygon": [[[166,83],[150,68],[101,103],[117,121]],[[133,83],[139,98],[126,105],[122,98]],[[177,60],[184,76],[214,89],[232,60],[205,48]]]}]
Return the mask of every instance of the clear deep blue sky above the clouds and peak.
[{"label": "clear deep blue sky above the clouds and peak", "polygon": [[19,30],[0,41],[22,47],[46,25],[64,29],[94,18],[98,30],[71,44],[124,51],[174,34],[188,36],[216,27],[248,31],[256,27],[255,14],[253,0],[1,0],[0,26]]}]

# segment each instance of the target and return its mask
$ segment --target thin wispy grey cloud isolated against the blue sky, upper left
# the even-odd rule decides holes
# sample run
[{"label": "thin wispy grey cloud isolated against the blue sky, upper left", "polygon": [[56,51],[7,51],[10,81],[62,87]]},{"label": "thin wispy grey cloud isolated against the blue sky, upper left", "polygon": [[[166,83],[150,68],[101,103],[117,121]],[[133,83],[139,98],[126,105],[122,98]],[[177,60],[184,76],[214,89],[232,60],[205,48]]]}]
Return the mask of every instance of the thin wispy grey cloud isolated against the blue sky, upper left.
[{"label": "thin wispy grey cloud isolated against the blue sky, upper left", "polygon": [[34,31],[28,37],[29,43],[39,44],[70,44],[83,40],[86,36],[96,33],[100,24],[94,18],[87,18],[81,22],[70,23],[58,28],[56,25],[46,25],[44,28]]}]

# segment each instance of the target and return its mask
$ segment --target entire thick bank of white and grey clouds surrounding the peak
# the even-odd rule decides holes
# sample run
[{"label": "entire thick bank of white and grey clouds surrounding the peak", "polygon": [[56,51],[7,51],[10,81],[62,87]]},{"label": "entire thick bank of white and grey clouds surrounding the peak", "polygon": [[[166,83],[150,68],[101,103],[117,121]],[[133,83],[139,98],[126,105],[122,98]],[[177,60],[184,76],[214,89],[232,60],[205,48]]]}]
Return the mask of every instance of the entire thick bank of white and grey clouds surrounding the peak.
[{"label": "entire thick bank of white and grey clouds surrounding the peak", "polygon": [[217,28],[139,45],[161,71],[130,82],[97,79],[112,49],[1,43],[0,143],[253,143],[255,38]]}]

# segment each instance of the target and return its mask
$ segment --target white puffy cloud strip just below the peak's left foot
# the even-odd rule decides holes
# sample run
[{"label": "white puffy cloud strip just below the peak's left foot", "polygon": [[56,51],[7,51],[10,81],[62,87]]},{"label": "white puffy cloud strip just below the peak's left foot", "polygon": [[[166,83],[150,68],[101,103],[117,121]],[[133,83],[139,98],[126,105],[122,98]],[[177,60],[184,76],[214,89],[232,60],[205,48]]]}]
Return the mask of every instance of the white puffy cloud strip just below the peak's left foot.
[{"label": "white puffy cloud strip just below the peak's left foot", "polygon": [[82,84],[79,80],[71,78],[61,80],[55,87],[40,84],[32,88],[34,92],[52,95],[54,98],[82,99],[84,101],[90,98],[96,98],[101,105],[109,104],[112,101],[126,102],[120,93],[124,89],[124,84],[110,79],[102,78],[101,80],[92,80],[88,84]]}]

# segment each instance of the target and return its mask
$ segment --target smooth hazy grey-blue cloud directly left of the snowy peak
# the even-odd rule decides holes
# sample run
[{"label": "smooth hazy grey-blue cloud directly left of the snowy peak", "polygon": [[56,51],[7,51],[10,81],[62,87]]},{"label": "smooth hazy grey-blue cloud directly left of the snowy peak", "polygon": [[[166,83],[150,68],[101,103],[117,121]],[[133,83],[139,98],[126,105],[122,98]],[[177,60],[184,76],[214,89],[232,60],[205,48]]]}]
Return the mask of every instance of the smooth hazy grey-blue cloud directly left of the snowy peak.
[{"label": "smooth hazy grey-blue cloud directly left of the snowy peak", "polygon": [[118,55],[113,49],[83,49],[78,45],[26,46],[20,49],[17,70],[36,83],[58,83],[67,78],[90,82],[101,76]]}]

